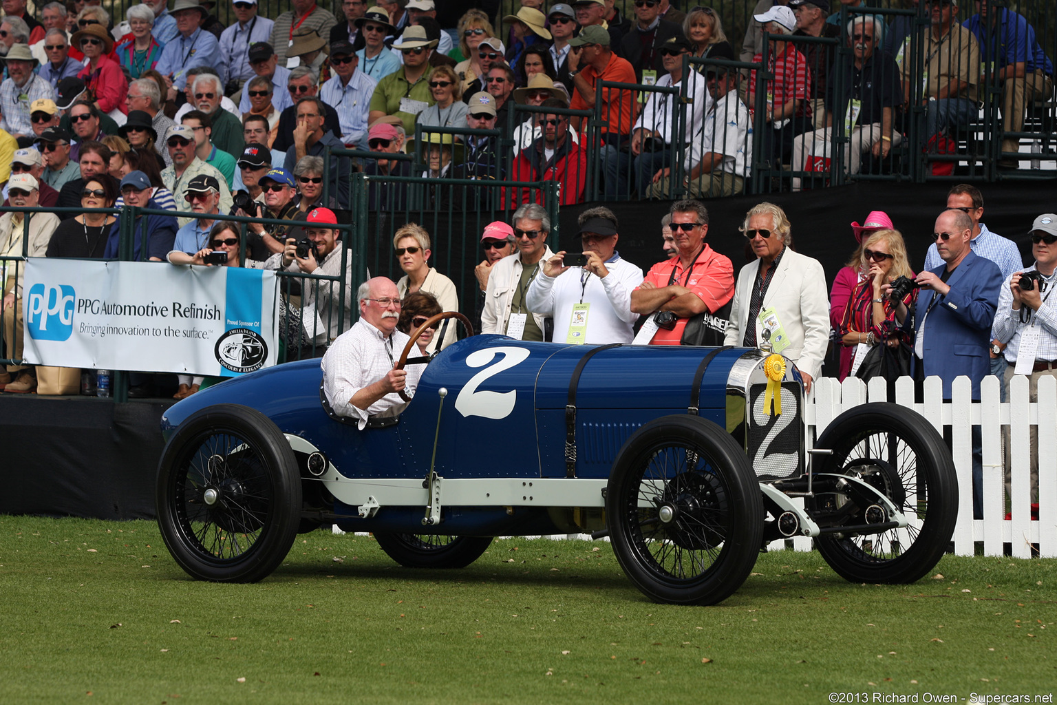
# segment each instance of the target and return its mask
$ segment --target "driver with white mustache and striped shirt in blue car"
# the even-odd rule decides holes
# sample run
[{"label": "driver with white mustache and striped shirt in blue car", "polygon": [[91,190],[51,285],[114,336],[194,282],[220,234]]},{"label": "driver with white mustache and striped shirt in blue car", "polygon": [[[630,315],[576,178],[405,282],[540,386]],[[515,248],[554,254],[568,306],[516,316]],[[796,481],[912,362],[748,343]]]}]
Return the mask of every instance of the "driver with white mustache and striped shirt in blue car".
[{"label": "driver with white mustache and striped shirt in blue car", "polygon": [[401,300],[396,284],[375,277],[359,285],[359,320],[339,335],[323,355],[323,396],[339,416],[360,429],[372,418],[397,415],[406,406],[402,390],[414,394],[423,366],[394,370],[410,336],[396,330]]}]

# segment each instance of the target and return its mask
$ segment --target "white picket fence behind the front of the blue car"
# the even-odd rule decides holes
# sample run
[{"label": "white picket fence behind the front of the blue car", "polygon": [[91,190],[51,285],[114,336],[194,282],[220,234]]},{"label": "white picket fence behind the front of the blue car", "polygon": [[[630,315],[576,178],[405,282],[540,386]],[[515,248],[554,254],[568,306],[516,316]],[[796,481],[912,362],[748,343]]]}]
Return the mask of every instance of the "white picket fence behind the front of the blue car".
[{"label": "white picket fence behind the front of the blue car", "polygon": [[[914,403],[913,382],[897,381],[894,402],[922,414],[938,431],[951,427],[951,447],[958,472],[959,507],[954,528],[954,553],[971,556],[976,543],[983,542],[986,556],[1003,555],[1003,544],[1009,543],[1019,558],[1057,556],[1057,378],[1043,376],[1039,381],[1038,402],[1028,401],[1027,378],[1016,376],[1009,398],[999,400],[999,381],[984,377],[980,388],[980,404],[972,404],[968,377],[958,377],[951,388],[952,400],[944,403],[939,377],[925,381],[925,402]],[[805,421],[820,433],[842,411],[866,402],[887,402],[884,379],[869,385],[849,377],[843,383],[833,378],[816,382]],[[1031,442],[1030,430],[1037,425],[1039,456],[1039,512],[1032,519],[1031,508]],[[972,441],[971,427],[981,427],[983,449],[984,518],[972,518]],[[1004,465],[1002,461],[1002,429],[1010,430],[1012,516],[1005,519]],[[816,434],[817,438],[817,434]],[[794,539],[794,549],[811,550],[810,539]],[[1034,550],[1033,550],[1034,544]],[[776,542],[775,548],[782,548]]]}]

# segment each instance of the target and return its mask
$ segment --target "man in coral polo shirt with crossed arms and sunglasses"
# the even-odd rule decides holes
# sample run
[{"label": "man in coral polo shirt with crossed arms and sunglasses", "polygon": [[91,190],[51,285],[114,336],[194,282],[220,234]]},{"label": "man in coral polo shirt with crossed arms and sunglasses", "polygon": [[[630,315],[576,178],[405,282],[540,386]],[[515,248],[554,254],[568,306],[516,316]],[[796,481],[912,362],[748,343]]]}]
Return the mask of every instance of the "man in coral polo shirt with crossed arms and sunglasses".
[{"label": "man in coral polo shirt with crossed arms and sunglasses", "polygon": [[734,297],[734,265],[705,243],[708,210],[701,201],[672,204],[671,234],[678,255],[650,267],[642,285],[631,293],[633,312],[656,312],[643,326],[644,331],[655,327],[649,340],[655,346],[680,345],[690,318],[725,312]]}]

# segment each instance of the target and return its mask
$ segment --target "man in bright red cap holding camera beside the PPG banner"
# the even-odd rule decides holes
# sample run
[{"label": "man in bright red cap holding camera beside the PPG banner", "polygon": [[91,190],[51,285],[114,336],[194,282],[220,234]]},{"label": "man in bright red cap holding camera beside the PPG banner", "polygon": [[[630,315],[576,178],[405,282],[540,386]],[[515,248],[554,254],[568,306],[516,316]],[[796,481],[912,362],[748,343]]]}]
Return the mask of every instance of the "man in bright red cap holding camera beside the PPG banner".
[{"label": "man in bright red cap holding camera beside the PPG banner", "polygon": [[[272,171],[282,171],[282,169]],[[268,207],[271,208],[271,205]],[[338,281],[314,281],[311,277],[307,277],[301,289],[302,304],[315,307],[323,328],[329,331],[330,339],[333,340],[342,331],[348,331],[352,327],[352,257],[345,258],[342,267],[345,247],[339,240],[340,231],[337,229],[337,217],[333,210],[313,208],[309,211],[307,221],[304,231],[308,237],[301,241],[286,238],[283,251],[270,257],[264,263],[264,268],[345,277],[344,297],[340,296],[341,284]]]}]

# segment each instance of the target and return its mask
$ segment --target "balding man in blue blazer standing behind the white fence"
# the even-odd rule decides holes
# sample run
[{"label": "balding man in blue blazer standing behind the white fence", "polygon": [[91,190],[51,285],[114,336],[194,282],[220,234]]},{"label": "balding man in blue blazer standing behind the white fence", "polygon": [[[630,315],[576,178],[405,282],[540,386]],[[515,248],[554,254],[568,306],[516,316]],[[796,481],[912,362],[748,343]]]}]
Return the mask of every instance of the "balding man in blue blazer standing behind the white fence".
[{"label": "balding man in blue blazer standing behind the white fence", "polygon": [[[914,364],[924,366],[925,376],[943,381],[943,396],[950,398],[954,377],[967,375],[972,398],[980,400],[980,381],[990,373],[988,348],[995,320],[1002,272],[995,262],[978,257],[969,246],[972,220],[962,210],[948,209],[935,219],[932,238],[944,264],[922,272],[914,304]],[[896,320],[910,322],[901,302]],[[973,517],[983,517],[983,465],[980,427],[972,427]]]}]

